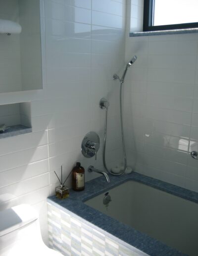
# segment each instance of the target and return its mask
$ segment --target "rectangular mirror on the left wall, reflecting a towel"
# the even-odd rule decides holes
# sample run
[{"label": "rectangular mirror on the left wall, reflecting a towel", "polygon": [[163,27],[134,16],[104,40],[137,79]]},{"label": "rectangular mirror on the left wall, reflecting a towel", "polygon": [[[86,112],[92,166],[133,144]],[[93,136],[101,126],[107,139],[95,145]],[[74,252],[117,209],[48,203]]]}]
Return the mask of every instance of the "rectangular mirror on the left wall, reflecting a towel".
[{"label": "rectangular mirror on the left wall, reflecting a towel", "polygon": [[1,0],[0,93],[42,87],[40,0]]}]

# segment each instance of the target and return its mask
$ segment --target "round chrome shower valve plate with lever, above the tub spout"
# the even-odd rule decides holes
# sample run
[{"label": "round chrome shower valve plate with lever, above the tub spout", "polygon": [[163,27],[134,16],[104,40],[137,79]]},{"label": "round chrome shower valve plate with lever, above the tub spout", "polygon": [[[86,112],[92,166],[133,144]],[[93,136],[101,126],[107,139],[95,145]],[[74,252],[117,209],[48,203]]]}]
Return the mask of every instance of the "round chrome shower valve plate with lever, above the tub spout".
[{"label": "round chrome shower valve plate with lever, above the tub spout", "polygon": [[99,135],[94,132],[88,132],[81,144],[81,151],[85,157],[93,157],[95,156],[95,160],[97,160],[97,152],[99,150]]}]

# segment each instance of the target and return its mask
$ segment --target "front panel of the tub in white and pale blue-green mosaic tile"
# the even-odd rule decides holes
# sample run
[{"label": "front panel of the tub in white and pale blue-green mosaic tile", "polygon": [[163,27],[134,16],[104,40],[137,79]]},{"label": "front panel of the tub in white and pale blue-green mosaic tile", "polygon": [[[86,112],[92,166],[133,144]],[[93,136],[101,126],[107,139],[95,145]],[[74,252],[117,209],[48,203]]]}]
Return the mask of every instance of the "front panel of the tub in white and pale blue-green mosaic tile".
[{"label": "front panel of the tub in white and pale blue-green mosaic tile", "polygon": [[145,253],[48,202],[49,246],[65,256],[140,256]]}]

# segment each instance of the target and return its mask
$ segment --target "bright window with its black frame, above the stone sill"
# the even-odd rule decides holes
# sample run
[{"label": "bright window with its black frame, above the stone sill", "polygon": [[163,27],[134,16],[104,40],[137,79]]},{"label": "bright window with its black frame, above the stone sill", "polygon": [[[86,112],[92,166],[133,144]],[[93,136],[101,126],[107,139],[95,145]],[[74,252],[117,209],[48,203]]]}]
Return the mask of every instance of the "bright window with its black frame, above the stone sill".
[{"label": "bright window with its black frame, above the stone sill", "polygon": [[143,31],[198,28],[198,0],[144,0]]}]

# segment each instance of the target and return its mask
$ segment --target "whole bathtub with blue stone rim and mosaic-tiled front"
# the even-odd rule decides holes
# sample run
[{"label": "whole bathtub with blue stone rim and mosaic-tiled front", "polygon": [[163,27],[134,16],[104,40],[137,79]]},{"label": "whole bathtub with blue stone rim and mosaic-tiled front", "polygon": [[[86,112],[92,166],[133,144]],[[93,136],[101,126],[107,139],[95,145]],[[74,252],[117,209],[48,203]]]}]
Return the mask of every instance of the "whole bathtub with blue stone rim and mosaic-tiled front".
[{"label": "whole bathtub with blue stone rim and mosaic-tiled front", "polygon": [[48,198],[51,248],[63,255],[198,255],[198,193],[138,173],[110,181],[99,177],[65,200]]}]

